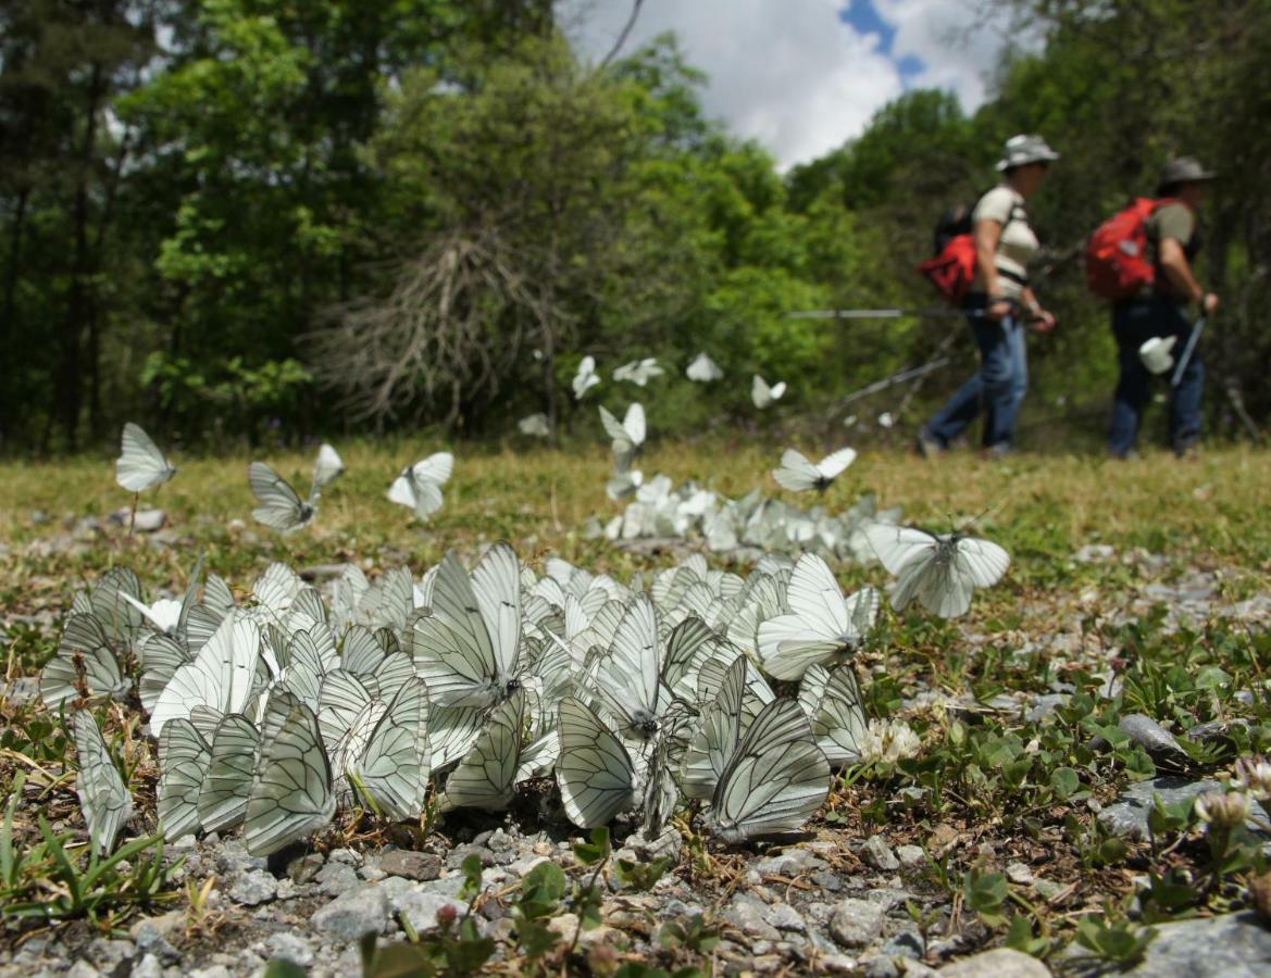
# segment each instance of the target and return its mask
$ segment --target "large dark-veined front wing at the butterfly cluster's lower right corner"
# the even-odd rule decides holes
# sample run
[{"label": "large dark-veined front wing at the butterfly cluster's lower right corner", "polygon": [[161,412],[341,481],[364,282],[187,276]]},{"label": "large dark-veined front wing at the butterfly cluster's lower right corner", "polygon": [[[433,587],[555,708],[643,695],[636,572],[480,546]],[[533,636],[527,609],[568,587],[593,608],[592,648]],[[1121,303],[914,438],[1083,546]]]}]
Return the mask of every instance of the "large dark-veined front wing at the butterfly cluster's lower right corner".
[{"label": "large dark-veined front wing at the butterfly cluster's lower right corner", "polygon": [[710,798],[724,842],[797,831],[830,793],[830,765],[794,700],[774,700],[746,730]]}]

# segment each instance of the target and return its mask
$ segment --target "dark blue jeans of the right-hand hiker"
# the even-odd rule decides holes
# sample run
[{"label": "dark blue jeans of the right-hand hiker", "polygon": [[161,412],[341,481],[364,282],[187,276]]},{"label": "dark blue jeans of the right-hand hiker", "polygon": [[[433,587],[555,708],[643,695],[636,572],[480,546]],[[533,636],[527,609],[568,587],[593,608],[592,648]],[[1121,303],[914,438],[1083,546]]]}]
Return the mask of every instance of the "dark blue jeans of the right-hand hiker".
[{"label": "dark blue jeans of the right-hand hiker", "polygon": [[[1108,432],[1108,451],[1124,459],[1134,448],[1143,422],[1143,409],[1152,399],[1153,375],[1139,359],[1139,347],[1153,337],[1174,337],[1171,353],[1174,363],[1187,347],[1192,324],[1187,321],[1186,307],[1163,296],[1134,298],[1117,302],[1112,307],[1112,332],[1116,335],[1121,377],[1112,400],[1112,429]],[[1173,380],[1174,367],[1164,375]],[[1177,387],[1169,391],[1169,442],[1178,453],[1200,441],[1201,398],[1205,394],[1205,365],[1200,349],[1192,351]]]}]

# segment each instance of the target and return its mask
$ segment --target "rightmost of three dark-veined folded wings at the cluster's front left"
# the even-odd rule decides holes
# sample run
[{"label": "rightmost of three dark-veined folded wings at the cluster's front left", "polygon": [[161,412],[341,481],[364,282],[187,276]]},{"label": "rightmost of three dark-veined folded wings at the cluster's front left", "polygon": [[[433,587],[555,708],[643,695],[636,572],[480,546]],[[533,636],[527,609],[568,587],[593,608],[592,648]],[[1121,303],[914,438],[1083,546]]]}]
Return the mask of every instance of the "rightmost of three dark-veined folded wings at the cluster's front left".
[{"label": "rightmost of three dark-veined folded wings at the cluster's front left", "polygon": [[264,713],[261,757],[252,775],[243,834],[247,851],[267,856],[305,838],[336,814],[330,761],[313,710],[275,691]]}]

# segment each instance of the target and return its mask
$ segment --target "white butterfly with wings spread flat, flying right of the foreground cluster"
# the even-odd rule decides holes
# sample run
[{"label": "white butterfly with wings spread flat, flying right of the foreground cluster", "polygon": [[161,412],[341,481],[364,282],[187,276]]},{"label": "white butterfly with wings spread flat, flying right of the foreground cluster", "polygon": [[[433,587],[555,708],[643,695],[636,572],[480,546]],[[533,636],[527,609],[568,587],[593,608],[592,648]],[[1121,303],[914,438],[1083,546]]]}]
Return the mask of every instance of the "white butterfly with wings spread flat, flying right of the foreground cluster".
[{"label": "white butterfly with wings spread flat, flying right of the foreground cluster", "polygon": [[1010,555],[1000,546],[962,533],[869,523],[864,535],[882,565],[896,575],[891,592],[896,611],[916,600],[934,615],[956,619],[970,610],[975,588],[996,584],[1010,566]]}]

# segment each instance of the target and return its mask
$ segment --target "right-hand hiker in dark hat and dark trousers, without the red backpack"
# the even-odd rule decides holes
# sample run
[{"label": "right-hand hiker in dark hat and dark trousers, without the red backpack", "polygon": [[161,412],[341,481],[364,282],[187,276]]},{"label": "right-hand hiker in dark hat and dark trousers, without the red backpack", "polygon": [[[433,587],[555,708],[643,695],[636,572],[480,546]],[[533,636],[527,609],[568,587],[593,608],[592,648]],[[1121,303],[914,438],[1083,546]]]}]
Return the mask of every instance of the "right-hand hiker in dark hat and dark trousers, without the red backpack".
[{"label": "right-hand hiker in dark hat and dark trousers, without the red backpack", "polygon": [[[1192,330],[1187,306],[1195,304],[1202,316],[1218,309],[1218,296],[1201,286],[1193,271],[1201,244],[1196,211],[1214,177],[1192,156],[1166,164],[1157,184],[1157,197],[1162,199],[1146,224],[1154,281],[1139,295],[1112,306],[1112,332],[1121,366],[1108,432],[1108,451],[1113,457],[1125,459],[1134,451],[1143,409],[1152,398],[1153,375],[1140,359],[1139,348],[1154,337],[1173,337],[1174,356],[1179,356]],[[1193,451],[1200,441],[1204,391],[1205,366],[1200,351],[1192,349],[1169,394],[1169,441],[1179,457]]]}]

